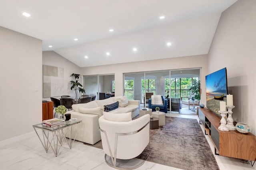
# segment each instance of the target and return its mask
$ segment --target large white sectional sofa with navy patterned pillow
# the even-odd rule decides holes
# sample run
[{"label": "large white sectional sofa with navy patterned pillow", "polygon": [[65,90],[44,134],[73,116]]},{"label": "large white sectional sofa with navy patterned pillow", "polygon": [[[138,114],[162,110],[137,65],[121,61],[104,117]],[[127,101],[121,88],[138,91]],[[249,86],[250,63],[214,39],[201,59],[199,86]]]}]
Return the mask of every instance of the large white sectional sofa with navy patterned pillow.
[{"label": "large white sectional sofa with navy patterned pillow", "polygon": [[[82,120],[82,123],[73,127],[72,137],[75,137],[76,130],[78,134],[76,140],[86,142],[88,144],[95,144],[101,140],[98,119],[103,115],[104,106],[107,107],[111,103],[119,102],[118,108],[109,111],[110,113],[128,113],[132,112],[132,118],[140,114],[140,101],[126,100],[125,96],[110,97],[104,100],[95,100],[89,103],[81,103],[72,105],[71,118]],[[78,129],[79,128],[79,129]],[[69,137],[69,134],[66,134]]]}]

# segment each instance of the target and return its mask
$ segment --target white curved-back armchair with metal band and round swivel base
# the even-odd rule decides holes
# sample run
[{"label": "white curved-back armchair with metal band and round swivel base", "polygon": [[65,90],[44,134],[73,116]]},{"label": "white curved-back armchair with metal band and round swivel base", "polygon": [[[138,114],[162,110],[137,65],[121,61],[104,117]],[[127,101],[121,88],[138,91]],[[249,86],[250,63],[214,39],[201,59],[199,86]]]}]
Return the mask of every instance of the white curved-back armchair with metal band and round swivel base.
[{"label": "white curved-back armchair with metal band and round swivel base", "polygon": [[[128,122],[114,122],[99,118],[100,135],[106,163],[117,169],[132,165],[140,167],[145,160],[136,159],[150,141],[150,115]],[[148,152],[149,154],[149,152]]]}]

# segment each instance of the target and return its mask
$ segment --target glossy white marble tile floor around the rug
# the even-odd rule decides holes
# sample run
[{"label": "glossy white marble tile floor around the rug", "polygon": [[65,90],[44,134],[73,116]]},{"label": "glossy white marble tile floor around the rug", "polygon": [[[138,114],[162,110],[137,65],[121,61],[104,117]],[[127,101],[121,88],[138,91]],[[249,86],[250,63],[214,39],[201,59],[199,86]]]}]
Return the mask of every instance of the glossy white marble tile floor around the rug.
[{"label": "glossy white marble tile floor around the rug", "polygon": [[[180,115],[167,113],[166,116],[197,119],[196,115]],[[199,120],[198,120],[199,121]],[[203,127],[200,125],[202,130]],[[204,130],[203,130],[204,131]],[[214,146],[206,135],[210,148],[214,153]],[[214,155],[220,170],[255,170],[256,164],[240,162],[240,159]],[[104,152],[101,149],[87,146],[75,141],[72,149],[64,143],[60,154],[55,157],[50,149],[44,151],[35,132],[0,142],[0,170],[113,170],[104,161]],[[146,161],[138,170],[178,170]]]}]

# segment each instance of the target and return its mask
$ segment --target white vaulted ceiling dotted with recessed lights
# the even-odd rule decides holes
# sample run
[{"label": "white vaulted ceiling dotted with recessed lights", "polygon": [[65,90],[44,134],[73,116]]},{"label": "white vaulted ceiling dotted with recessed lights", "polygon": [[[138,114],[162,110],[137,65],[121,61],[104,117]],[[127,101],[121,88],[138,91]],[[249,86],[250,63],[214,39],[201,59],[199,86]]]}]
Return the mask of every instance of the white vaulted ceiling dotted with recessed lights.
[{"label": "white vaulted ceiling dotted with recessed lights", "polygon": [[235,2],[1,0],[0,26],[88,67],[207,54],[221,13]]}]

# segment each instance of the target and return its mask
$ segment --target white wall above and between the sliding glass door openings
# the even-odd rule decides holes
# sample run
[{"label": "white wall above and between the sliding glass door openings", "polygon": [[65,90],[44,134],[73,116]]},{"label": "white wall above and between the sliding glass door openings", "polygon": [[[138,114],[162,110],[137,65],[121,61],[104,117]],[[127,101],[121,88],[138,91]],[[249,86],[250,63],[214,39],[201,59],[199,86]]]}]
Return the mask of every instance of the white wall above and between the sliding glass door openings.
[{"label": "white wall above and between the sliding glass door openings", "polygon": [[[135,73],[141,71],[157,71],[157,70],[170,70],[170,69],[187,69],[187,68],[200,68],[201,69],[201,84],[202,97],[201,102],[206,103],[205,93],[205,75],[208,72],[207,68],[208,57],[207,55],[194,55],[187,57],[176,57],[168,59],[156,59],[149,61],[138,61],[131,63],[121,63],[112,65],[101,65],[94,67],[83,67],[82,75],[97,75],[97,74],[115,74],[115,94],[116,96],[123,95],[123,73]],[[204,76],[202,76],[204,75]]]}]

